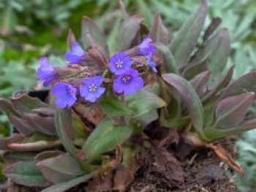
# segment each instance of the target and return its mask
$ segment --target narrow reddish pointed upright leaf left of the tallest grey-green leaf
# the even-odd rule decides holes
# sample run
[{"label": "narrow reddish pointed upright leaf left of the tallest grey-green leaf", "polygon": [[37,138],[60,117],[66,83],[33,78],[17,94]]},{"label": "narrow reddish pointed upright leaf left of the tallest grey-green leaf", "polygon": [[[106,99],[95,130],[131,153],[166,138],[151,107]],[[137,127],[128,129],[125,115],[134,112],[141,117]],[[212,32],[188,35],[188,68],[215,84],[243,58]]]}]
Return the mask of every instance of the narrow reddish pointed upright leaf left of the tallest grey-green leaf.
[{"label": "narrow reddish pointed upright leaf left of the tallest grey-green leaf", "polygon": [[164,23],[162,23],[159,11],[154,15],[154,22],[149,30],[149,36],[154,42],[162,42],[165,45],[168,45],[170,42],[170,33]]}]

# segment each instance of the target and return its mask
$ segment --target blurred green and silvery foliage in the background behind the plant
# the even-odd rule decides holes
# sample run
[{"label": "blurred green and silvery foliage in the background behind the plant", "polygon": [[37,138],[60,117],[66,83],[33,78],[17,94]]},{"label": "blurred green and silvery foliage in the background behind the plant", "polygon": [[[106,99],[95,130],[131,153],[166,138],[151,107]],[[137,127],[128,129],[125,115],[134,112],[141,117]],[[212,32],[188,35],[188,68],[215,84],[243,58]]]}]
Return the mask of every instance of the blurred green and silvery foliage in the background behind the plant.
[{"label": "blurred green and silvery foliage in the background behind the plant", "polygon": [[[200,0],[124,1],[130,12],[145,17],[145,23],[156,9],[165,24],[176,31]],[[220,27],[228,28],[232,54],[229,65],[235,65],[234,78],[256,69],[256,1],[209,0],[210,19],[220,17]],[[54,64],[64,64],[59,55],[67,50],[67,29],[72,27],[80,37],[80,18],[88,15],[108,34],[113,53],[121,23],[118,1],[107,0],[0,0],[0,96],[13,91],[29,90],[36,84],[35,69],[42,55],[50,55]],[[0,115],[0,134],[6,136],[7,118]],[[256,175],[255,134],[246,133],[238,141],[238,161],[251,170],[246,177],[237,177],[241,191],[252,191]],[[245,158],[246,157],[246,158]],[[252,171],[255,170],[255,171]],[[254,184],[256,185],[256,184]]]}]

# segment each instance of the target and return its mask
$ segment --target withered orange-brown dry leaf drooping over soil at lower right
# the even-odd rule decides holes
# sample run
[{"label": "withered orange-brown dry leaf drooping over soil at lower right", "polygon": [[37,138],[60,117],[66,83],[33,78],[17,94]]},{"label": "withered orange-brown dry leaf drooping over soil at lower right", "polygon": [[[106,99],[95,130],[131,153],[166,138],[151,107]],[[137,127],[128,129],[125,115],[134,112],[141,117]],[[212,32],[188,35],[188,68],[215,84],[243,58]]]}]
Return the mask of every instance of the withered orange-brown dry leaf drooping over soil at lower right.
[{"label": "withered orange-brown dry leaf drooping over soil at lower right", "polygon": [[209,144],[208,147],[214,150],[216,155],[223,161],[225,164],[228,164],[232,169],[240,174],[245,174],[244,169],[236,163],[236,161],[227,153],[227,150],[221,145]]}]

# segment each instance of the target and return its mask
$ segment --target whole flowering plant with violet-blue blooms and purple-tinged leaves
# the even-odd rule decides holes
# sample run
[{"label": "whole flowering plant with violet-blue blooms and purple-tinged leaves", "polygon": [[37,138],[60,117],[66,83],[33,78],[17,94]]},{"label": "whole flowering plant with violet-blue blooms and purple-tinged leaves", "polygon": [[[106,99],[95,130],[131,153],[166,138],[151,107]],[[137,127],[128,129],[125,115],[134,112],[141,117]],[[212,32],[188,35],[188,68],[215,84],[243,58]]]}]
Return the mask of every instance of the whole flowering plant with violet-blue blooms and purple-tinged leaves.
[{"label": "whole flowering plant with violet-blue blooms and purple-tinged leaves", "polygon": [[[64,191],[114,169],[118,180],[120,174],[138,169],[136,157],[143,150],[170,144],[173,131],[176,142],[210,147],[244,173],[214,142],[255,128],[250,107],[256,74],[231,82],[233,67],[222,72],[230,53],[229,34],[217,30],[219,22],[213,21],[200,37],[207,2],[203,0],[174,35],[159,12],[148,29],[143,18],[129,16],[120,4],[124,21],[117,53],[110,55],[103,32],[83,17],[82,44],[69,30],[67,65],[55,67],[48,58],[39,61],[39,82],[51,85],[48,104],[26,95],[0,100],[19,131],[0,140],[8,151],[5,157],[20,151],[35,155],[29,161],[16,159],[5,175],[21,185],[56,183],[44,191]],[[156,139],[147,134],[152,127],[167,134]],[[111,153],[115,149],[116,154]],[[30,167],[26,171],[25,165]],[[37,179],[31,180],[31,172]],[[122,182],[113,188],[124,190],[132,179]]]}]

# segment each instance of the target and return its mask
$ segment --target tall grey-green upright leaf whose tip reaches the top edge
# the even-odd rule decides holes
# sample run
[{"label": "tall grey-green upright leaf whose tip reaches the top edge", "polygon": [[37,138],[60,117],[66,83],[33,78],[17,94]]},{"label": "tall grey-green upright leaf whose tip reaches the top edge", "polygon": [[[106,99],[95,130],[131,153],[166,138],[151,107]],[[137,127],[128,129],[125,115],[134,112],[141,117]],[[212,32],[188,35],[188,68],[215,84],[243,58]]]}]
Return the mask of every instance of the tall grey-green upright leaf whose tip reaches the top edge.
[{"label": "tall grey-green upright leaf whose tip reaches the top edge", "polygon": [[203,0],[200,7],[185,21],[170,43],[170,50],[178,66],[185,66],[192,51],[197,45],[197,39],[206,19],[207,1]]}]

